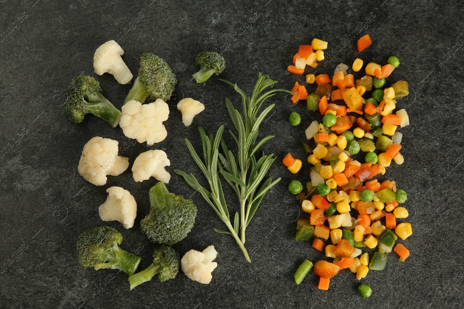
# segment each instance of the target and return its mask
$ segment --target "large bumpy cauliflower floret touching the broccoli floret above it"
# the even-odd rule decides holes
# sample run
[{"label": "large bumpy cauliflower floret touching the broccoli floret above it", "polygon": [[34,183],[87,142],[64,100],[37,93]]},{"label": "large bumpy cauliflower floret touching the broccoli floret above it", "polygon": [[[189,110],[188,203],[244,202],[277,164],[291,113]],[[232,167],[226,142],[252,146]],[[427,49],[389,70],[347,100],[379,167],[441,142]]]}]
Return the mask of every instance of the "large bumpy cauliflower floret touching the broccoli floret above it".
[{"label": "large bumpy cauliflower floret touching the broccoli floret above it", "polygon": [[168,104],[161,99],[143,105],[131,100],[122,106],[119,126],[129,139],[136,139],[139,143],[147,142],[147,145],[151,146],[161,142],[168,135],[163,125],[163,121],[168,120],[168,117]]}]

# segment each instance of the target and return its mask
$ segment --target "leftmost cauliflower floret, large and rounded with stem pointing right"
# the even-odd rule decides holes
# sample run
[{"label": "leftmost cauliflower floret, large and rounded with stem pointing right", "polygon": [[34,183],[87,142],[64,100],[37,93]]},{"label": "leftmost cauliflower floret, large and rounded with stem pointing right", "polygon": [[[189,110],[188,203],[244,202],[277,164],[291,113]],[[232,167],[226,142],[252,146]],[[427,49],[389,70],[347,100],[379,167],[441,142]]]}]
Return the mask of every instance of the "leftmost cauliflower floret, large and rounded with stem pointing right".
[{"label": "leftmost cauliflower floret, large and rounded with stem pointing right", "polygon": [[118,176],[129,167],[129,159],[117,155],[118,142],[96,136],[84,145],[77,171],[89,183],[103,186],[106,175]]}]

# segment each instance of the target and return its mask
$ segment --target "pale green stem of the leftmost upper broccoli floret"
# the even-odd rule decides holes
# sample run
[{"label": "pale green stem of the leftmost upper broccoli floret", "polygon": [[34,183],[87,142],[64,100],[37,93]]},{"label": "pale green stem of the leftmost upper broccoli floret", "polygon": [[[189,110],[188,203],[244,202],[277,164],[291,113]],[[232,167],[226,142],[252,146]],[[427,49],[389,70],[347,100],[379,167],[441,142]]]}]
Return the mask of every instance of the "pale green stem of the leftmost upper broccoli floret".
[{"label": "pale green stem of the leftmost upper broccoli floret", "polygon": [[94,114],[116,127],[121,119],[121,111],[108,101],[101,93],[84,94],[84,110],[86,113]]}]

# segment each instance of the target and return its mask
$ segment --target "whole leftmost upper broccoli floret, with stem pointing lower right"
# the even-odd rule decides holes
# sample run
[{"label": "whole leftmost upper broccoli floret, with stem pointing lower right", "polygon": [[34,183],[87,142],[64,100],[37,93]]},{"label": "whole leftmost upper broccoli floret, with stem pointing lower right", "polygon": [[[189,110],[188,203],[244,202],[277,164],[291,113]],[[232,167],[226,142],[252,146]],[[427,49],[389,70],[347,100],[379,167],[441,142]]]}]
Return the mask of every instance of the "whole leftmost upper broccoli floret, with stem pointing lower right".
[{"label": "whole leftmost upper broccoli floret, with stem pointing lower right", "polygon": [[74,123],[81,123],[85,114],[94,114],[116,127],[121,112],[101,93],[100,83],[90,76],[75,76],[66,88],[64,114]]}]

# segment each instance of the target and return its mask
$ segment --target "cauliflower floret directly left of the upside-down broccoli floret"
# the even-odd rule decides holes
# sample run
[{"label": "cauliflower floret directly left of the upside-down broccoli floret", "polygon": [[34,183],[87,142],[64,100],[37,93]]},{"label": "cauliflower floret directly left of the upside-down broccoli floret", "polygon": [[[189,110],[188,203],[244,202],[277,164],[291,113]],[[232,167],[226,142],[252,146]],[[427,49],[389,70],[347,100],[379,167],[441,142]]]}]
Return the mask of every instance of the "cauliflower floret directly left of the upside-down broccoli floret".
[{"label": "cauliflower floret directly left of the upside-down broccoli floret", "polygon": [[133,227],[137,216],[134,196],[121,187],[110,187],[106,192],[106,202],[98,208],[100,218],[103,221],[119,221],[125,228]]}]

